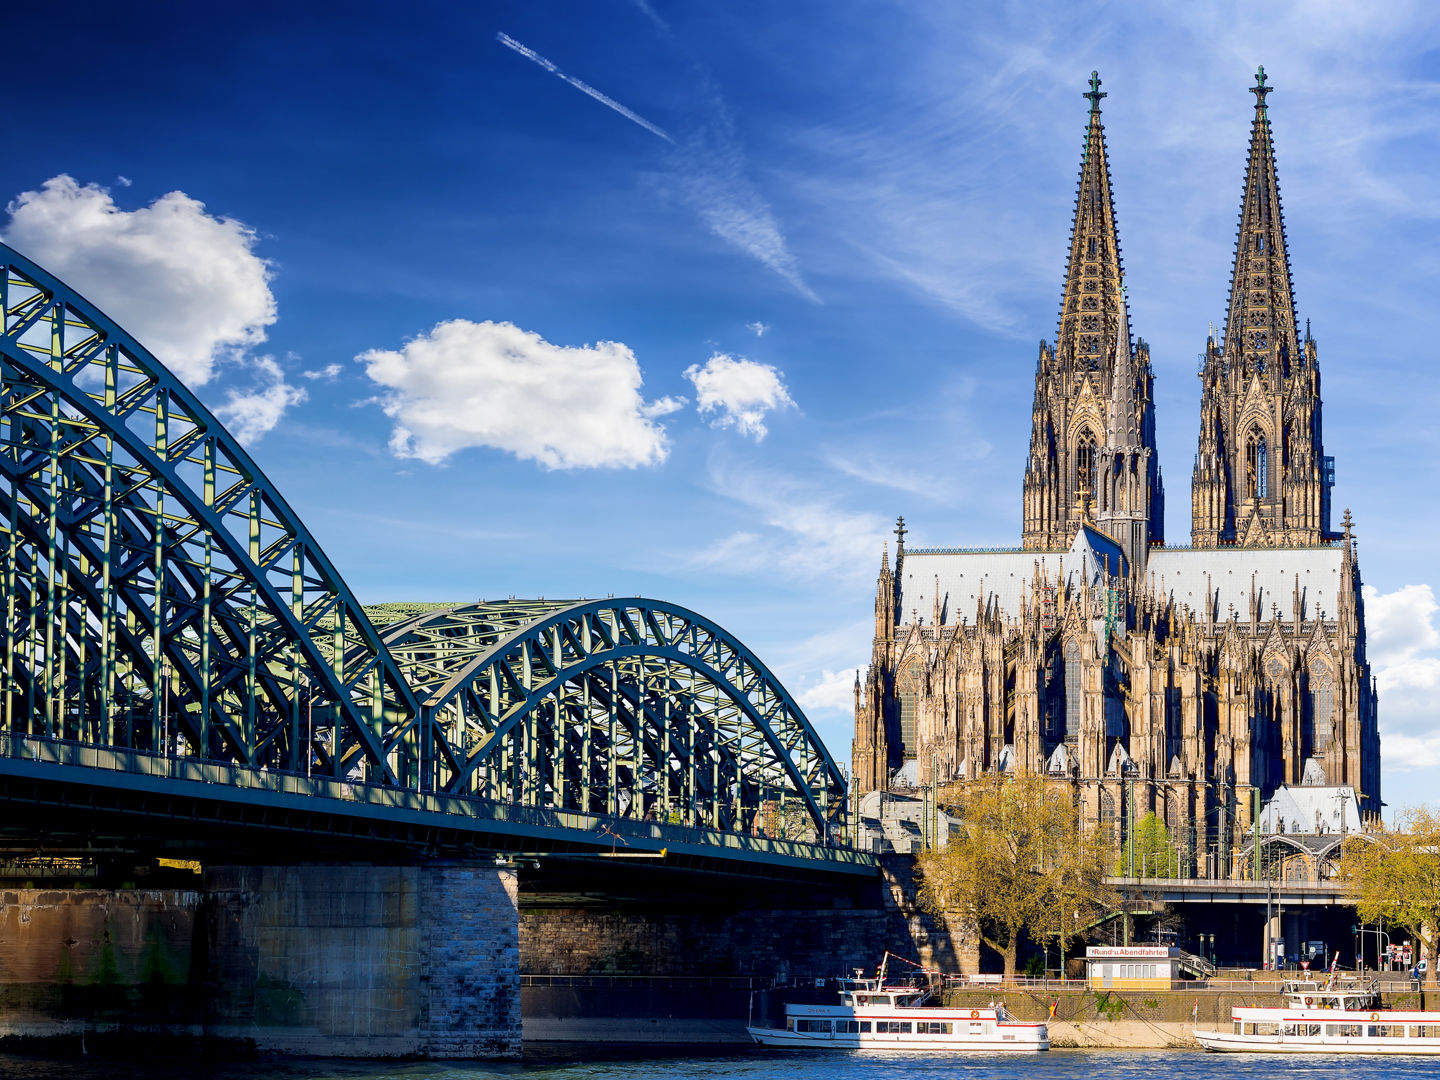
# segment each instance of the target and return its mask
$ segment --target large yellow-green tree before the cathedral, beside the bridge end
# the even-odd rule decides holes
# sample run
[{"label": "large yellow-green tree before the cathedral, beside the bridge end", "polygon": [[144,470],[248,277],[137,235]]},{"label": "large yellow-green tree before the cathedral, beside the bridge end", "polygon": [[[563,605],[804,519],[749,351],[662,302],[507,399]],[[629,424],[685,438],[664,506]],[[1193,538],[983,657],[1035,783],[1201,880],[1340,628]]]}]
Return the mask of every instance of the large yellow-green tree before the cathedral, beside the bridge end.
[{"label": "large yellow-green tree before the cathedral, beside the bridge end", "polygon": [[1022,933],[1056,942],[1063,965],[1081,927],[1117,903],[1106,884],[1113,848],[1080,827],[1070,786],[1037,773],[986,776],[945,789],[940,801],[960,832],[920,855],[920,906],[971,914],[1007,975]]}]

